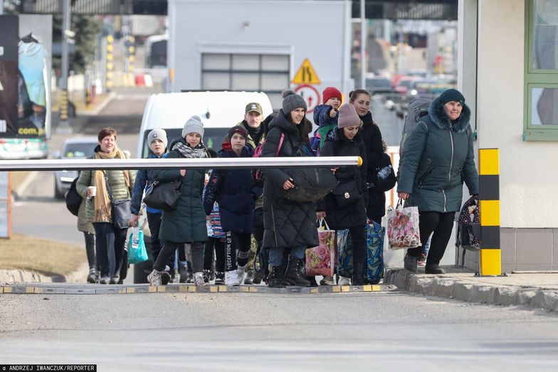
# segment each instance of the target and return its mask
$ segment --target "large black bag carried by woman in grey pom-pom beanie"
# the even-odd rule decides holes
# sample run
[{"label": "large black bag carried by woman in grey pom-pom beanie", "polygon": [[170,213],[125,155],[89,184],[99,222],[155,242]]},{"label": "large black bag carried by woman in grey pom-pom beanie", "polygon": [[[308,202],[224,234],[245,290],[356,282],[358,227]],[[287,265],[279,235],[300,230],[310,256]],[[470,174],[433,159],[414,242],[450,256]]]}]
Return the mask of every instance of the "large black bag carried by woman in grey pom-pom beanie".
[{"label": "large black bag carried by woman in grey pom-pom beanie", "polygon": [[290,201],[298,203],[318,201],[337,186],[335,174],[329,168],[293,168],[285,172],[293,179],[295,188],[288,190],[280,188],[280,196]]}]

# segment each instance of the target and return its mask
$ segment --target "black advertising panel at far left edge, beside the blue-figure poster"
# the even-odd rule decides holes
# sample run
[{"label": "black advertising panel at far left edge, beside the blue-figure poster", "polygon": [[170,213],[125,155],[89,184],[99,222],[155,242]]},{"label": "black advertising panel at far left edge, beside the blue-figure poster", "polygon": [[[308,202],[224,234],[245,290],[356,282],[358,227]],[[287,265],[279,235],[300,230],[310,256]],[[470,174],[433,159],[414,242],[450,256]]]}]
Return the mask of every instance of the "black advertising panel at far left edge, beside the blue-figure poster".
[{"label": "black advertising panel at far left edge, beside the blue-figure poster", "polygon": [[0,16],[0,137],[18,127],[18,17]]}]

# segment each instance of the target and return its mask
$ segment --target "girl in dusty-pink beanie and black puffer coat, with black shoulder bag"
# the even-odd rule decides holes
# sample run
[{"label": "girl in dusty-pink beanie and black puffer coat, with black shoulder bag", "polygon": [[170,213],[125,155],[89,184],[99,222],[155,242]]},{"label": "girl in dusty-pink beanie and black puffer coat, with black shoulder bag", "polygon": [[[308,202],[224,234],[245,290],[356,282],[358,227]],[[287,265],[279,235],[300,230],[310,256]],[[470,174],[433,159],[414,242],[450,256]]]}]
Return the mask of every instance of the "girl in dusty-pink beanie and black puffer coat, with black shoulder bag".
[{"label": "girl in dusty-pink beanie and black puffer coat, with black shoulder bag", "polygon": [[353,285],[364,284],[364,262],[367,256],[367,153],[359,131],[357,111],[350,103],[342,105],[337,127],[327,133],[320,156],[361,156],[363,164],[337,169],[335,178],[339,185],[317,207],[320,211],[318,217],[327,218],[330,228],[350,230],[353,242]]}]

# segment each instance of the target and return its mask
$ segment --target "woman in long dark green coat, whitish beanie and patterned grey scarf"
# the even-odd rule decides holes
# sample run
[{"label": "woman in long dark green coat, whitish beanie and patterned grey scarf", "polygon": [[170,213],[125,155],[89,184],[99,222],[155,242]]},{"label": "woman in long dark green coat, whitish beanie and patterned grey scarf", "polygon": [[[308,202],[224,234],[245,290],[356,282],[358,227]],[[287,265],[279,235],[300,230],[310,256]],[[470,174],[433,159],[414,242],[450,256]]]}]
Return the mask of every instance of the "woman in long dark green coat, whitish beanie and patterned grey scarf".
[{"label": "woman in long dark green coat, whitish beanie and patterned grey scarf", "polygon": [[[182,129],[182,138],[169,146],[168,158],[206,158],[207,149],[201,141],[204,137],[204,124],[193,116]],[[182,181],[182,194],[177,208],[163,211],[159,240],[164,242],[153,271],[147,276],[151,285],[161,285],[161,274],[169,257],[183,243],[191,244],[192,271],[194,283],[204,282],[204,243],[207,241],[206,214],[201,201],[204,189],[205,172],[203,169],[157,169],[152,173],[154,181]]]}]

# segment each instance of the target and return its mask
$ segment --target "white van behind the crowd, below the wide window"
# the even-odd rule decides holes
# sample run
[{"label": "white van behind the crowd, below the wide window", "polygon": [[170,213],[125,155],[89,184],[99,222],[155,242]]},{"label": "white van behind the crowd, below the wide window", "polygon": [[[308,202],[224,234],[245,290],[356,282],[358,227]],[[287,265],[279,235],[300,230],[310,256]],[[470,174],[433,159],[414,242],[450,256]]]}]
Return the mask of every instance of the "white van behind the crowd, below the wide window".
[{"label": "white van behind the crowd, below the wide window", "polygon": [[244,119],[250,102],[258,102],[263,117],[271,114],[271,102],[263,92],[181,92],[161,93],[149,97],[137,142],[137,158],[147,156],[147,134],[152,129],[167,131],[169,144],[181,137],[184,123],[192,115],[204,122],[204,144],[219,152],[228,129]]}]

